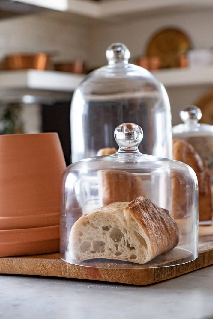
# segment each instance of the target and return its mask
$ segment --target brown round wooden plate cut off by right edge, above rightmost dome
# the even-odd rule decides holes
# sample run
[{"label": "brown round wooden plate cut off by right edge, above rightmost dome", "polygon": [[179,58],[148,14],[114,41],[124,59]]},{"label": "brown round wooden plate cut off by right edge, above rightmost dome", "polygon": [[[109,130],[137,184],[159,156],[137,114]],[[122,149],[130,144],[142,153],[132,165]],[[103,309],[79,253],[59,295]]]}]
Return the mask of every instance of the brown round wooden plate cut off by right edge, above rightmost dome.
[{"label": "brown round wooden plate cut off by right edge, above rightmost dome", "polygon": [[202,111],[201,122],[213,125],[213,90],[202,95],[194,105],[198,106]]}]

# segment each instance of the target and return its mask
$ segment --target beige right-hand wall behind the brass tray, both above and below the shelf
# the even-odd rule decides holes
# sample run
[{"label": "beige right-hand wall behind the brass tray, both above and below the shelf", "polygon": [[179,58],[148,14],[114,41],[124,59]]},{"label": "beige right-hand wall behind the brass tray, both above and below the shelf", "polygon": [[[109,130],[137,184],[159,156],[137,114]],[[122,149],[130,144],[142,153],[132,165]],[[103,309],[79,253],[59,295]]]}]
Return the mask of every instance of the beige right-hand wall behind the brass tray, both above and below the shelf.
[{"label": "beige right-hand wall behind the brass tray, both above and below the shelf", "polygon": [[[105,50],[113,42],[124,42],[131,56],[145,53],[146,44],[152,33],[165,27],[178,27],[186,32],[191,39],[193,48],[209,48],[213,46],[213,10],[167,13],[157,16],[141,17],[137,20],[126,19],[122,24],[93,27],[92,51],[90,63],[92,67],[106,64]],[[134,61],[134,59],[132,59]],[[180,122],[179,110],[194,103],[201,94],[211,86],[185,86],[166,88],[172,110],[172,123]]]}]

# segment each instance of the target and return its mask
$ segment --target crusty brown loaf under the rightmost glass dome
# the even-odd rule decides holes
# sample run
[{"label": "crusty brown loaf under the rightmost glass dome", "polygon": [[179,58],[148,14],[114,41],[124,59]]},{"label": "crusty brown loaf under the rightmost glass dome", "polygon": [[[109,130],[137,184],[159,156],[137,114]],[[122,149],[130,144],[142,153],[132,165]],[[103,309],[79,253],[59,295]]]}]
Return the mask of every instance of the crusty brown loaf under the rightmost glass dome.
[{"label": "crusty brown loaf under the rightmost glass dome", "polygon": [[[210,174],[205,162],[198,153],[194,151],[192,145],[184,140],[176,139],[173,140],[173,159],[186,163],[194,169],[198,179],[199,221],[211,220],[213,207]],[[172,215],[174,218],[182,218],[185,212],[187,212],[186,192],[186,184],[181,183],[181,181],[174,176],[172,179]]]}]

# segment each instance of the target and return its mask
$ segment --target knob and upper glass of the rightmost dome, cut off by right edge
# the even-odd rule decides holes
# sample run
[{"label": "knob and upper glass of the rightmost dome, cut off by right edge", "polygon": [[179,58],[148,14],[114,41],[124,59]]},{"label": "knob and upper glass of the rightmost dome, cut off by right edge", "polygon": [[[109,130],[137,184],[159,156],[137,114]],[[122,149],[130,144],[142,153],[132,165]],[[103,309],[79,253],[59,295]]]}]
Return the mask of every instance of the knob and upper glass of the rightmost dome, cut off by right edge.
[{"label": "knob and upper glass of the rightmost dome, cut off by right edge", "polygon": [[172,128],[172,136],[184,139],[194,147],[209,167],[213,185],[213,125],[198,123],[202,118],[201,109],[190,105],[180,111],[182,124]]}]

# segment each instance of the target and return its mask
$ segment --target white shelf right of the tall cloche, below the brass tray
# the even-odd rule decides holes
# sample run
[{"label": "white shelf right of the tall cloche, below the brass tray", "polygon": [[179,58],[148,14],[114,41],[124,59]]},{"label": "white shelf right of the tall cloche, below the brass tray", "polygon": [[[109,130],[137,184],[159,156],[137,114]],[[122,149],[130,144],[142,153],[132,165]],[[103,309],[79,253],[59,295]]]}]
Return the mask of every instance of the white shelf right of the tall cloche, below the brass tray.
[{"label": "white shelf right of the tall cloche, below the brass tray", "polygon": [[166,87],[213,84],[213,66],[159,70],[153,72],[153,75]]}]

